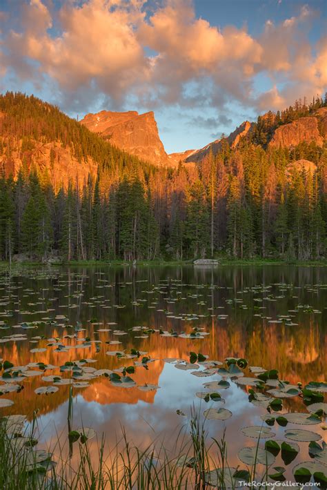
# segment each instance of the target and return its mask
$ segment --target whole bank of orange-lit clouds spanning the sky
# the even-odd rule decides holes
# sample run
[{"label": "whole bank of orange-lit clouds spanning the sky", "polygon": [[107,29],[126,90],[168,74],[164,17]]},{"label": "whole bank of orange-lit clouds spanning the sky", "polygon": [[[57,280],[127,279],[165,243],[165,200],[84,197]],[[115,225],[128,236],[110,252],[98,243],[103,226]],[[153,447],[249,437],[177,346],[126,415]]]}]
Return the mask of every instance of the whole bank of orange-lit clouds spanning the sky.
[{"label": "whole bank of orange-lit clouds spanning the sky", "polygon": [[[66,110],[87,110],[99,98],[123,108],[132,98],[148,108],[215,107],[226,114],[230,101],[282,108],[296,94],[321,93],[327,85],[326,42],[310,46],[315,12],[308,6],[277,25],[266,21],[255,38],[245,28],[221,30],[197,18],[191,0],[150,5],[26,0],[18,20],[8,19],[0,32],[1,74],[12,70],[21,81],[50,83]],[[265,92],[255,89],[261,73],[271,79]],[[215,124],[210,119],[204,126]],[[218,124],[229,121],[218,117]]]}]

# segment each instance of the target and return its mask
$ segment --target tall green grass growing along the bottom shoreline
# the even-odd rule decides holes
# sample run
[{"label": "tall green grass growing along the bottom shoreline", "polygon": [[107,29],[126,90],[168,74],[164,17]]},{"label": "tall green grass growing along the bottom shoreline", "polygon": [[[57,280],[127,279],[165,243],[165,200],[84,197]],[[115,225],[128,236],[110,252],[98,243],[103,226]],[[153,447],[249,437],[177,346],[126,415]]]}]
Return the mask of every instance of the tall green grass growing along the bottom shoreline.
[{"label": "tall green grass growing along the bottom shoreline", "polygon": [[[128,440],[124,429],[117,444],[108,448],[104,436],[98,438],[93,429],[72,430],[70,408],[65,442],[62,442],[63,434],[57,433],[57,440],[46,449],[37,449],[36,418],[29,433],[23,431],[22,415],[0,419],[1,489],[227,490],[244,488],[245,482],[255,481],[258,487],[266,487],[288,481],[284,476],[286,470],[272,463],[276,443],[270,440],[261,449],[265,441],[264,435],[260,438],[261,432],[246,468],[244,464],[235,468],[228,463],[225,431],[219,440],[208,440],[206,422],[200,422],[194,410],[190,421],[177,433],[176,451],[172,454],[158,440],[139,449]],[[285,447],[286,452],[281,449],[284,456],[283,452],[281,455],[283,459],[288,458],[286,464],[289,464],[297,453],[294,455],[288,444]],[[300,487],[315,482],[318,484],[315,488],[326,489],[326,475],[313,471],[299,468],[291,481]]]}]

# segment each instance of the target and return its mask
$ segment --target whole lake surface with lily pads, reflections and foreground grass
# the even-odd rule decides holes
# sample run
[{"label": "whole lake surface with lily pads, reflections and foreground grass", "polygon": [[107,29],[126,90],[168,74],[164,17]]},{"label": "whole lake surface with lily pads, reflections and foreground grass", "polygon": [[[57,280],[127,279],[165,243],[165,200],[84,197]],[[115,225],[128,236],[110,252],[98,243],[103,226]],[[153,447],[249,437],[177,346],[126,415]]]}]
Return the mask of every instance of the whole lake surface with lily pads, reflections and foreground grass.
[{"label": "whole lake surface with lily pads, reflections and foreground grass", "polygon": [[[114,280],[109,273],[61,268],[15,274],[0,276],[0,425],[6,425],[6,444],[14,444],[10,451],[23,451],[26,484],[35,473],[39,488],[52,488],[45,485],[54,481],[53,488],[61,488],[60,482],[68,484],[68,467],[75,471],[69,484],[78,476],[85,482],[81,488],[88,488],[92,478],[94,488],[103,489],[174,489],[185,482],[195,489],[237,488],[251,478],[324,483],[327,385],[319,364],[324,346],[319,351],[317,342],[324,308],[313,302],[308,311],[302,305],[313,291],[326,297],[326,284],[306,284],[298,291],[292,282],[237,289],[216,284],[212,277],[205,282],[203,276],[201,282],[195,277],[155,280],[150,271],[146,280],[133,275],[129,280],[124,271]],[[306,332],[313,339],[308,361],[303,357]],[[45,440],[38,442],[35,426],[46,413],[62,411],[66,402],[69,451],[64,462],[58,449],[62,441],[53,450],[46,447]],[[81,409],[72,413],[75,404],[87,418]],[[188,449],[183,453],[172,444],[159,450],[155,442],[141,448],[143,441],[139,447],[126,435],[124,455],[117,452],[114,458],[114,475],[108,460],[101,459],[106,433],[94,414],[107,420],[112,431],[122,424],[120,416],[130,418],[128,434],[135,425],[132,404],[143,407],[159,445],[164,442],[158,442],[155,424],[172,427],[171,420],[179,418]],[[104,418],[103,407],[111,414],[114,405],[118,415],[112,422],[110,415]],[[160,409],[153,420],[152,405]],[[144,440],[150,440],[148,435]],[[83,468],[73,464],[76,448]],[[128,451],[133,462],[122,459]],[[143,477],[148,487],[137,487]]]}]

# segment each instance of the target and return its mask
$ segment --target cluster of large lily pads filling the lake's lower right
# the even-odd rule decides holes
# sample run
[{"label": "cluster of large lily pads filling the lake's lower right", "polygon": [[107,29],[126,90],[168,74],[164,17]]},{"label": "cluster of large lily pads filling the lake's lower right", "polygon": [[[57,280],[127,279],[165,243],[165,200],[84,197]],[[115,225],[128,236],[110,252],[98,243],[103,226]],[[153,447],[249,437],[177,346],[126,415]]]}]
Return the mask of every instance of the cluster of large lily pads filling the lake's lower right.
[{"label": "cluster of large lily pads filling the lake's lower right", "polygon": [[[327,403],[324,402],[324,393],[327,392],[327,383],[310,382],[305,387],[301,384],[292,385],[286,381],[279,380],[279,373],[273,369],[266,371],[260,366],[248,366],[245,359],[227,358],[224,362],[211,361],[201,353],[190,353],[189,362],[183,360],[166,360],[174,362],[178,369],[198,369],[199,365],[204,366],[202,371],[192,371],[191,374],[201,376],[211,376],[217,373],[219,381],[204,383],[207,391],[196,393],[197,397],[204,402],[219,402],[224,404],[221,391],[230,388],[230,382],[235,382],[248,389],[248,400],[255,406],[266,409],[266,413],[261,415],[262,425],[244,427],[241,433],[248,438],[255,438],[257,445],[244,447],[237,454],[239,460],[247,465],[246,469],[214,469],[206,475],[206,482],[217,486],[217,482],[224,480],[226,487],[237,488],[244,481],[249,481],[253,477],[251,468],[257,464],[266,467],[266,474],[270,480],[277,482],[286,481],[286,468],[274,466],[279,455],[284,465],[287,466],[297,458],[300,452],[297,442],[309,442],[308,456],[311,460],[297,463],[293,467],[293,476],[296,482],[308,483],[310,481],[319,484],[320,488],[327,485],[327,446],[325,442],[321,445],[317,441],[321,440],[321,435],[306,429],[288,429],[288,424],[300,424],[308,426],[319,426],[327,429],[324,420],[327,413]],[[197,364],[194,364],[197,362]],[[253,376],[246,376],[246,371]],[[279,413],[283,410],[283,398],[301,398],[306,413]],[[219,408],[210,407],[204,411],[204,418],[208,420],[225,421],[232,417],[232,412],[223,406]],[[284,431],[285,440],[274,440],[275,433],[271,429],[277,424],[279,427],[286,427]],[[268,426],[268,427],[267,427]],[[260,445],[261,440],[264,444]],[[255,475],[257,477],[257,474]],[[252,478],[253,479],[253,478]],[[312,480],[313,479],[313,480]],[[243,483],[242,483],[243,482]]]}]

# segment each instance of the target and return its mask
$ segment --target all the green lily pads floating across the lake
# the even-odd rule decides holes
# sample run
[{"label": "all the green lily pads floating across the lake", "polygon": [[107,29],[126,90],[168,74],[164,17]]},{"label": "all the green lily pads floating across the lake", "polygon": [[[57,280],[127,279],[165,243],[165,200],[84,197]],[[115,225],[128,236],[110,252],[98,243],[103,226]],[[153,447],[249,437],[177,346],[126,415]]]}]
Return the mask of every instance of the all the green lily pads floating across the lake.
[{"label": "all the green lily pads floating across the lake", "polygon": [[[32,274],[32,273],[30,273]],[[34,291],[30,288],[22,288],[22,286],[12,286],[8,282],[8,278],[2,281],[3,289],[6,286],[7,295],[1,297],[1,306],[4,311],[0,312],[0,316],[4,318],[0,321],[0,330],[4,331],[5,335],[0,338],[0,344],[10,344],[11,342],[30,342],[35,345],[30,349],[32,355],[42,353],[48,349],[52,349],[56,353],[72,353],[70,360],[63,362],[61,366],[54,366],[52,364],[44,364],[43,362],[28,362],[24,366],[14,366],[10,360],[0,360],[0,409],[12,406],[14,401],[6,398],[7,393],[19,393],[23,390],[23,384],[28,378],[38,377],[43,382],[43,386],[38,386],[34,391],[37,395],[51,395],[56,393],[60,386],[69,385],[72,389],[83,389],[89,386],[89,384],[99,377],[108,378],[108,381],[112,386],[117,389],[139,389],[140,391],[155,391],[159,389],[157,384],[142,384],[138,385],[133,379],[133,375],[137,369],[150,369],[152,362],[158,361],[158,359],[152,358],[148,351],[141,351],[137,348],[132,349],[120,349],[120,350],[108,350],[106,355],[117,360],[118,366],[115,369],[97,369],[90,364],[97,362],[97,358],[85,357],[77,358],[79,349],[91,349],[95,347],[95,352],[99,353],[103,344],[109,346],[123,344],[119,338],[128,334],[133,335],[135,339],[146,339],[151,335],[159,335],[161,338],[173,337],[195,341],[195,351],[191,351],[188,359],[177,358],[164,358],[163,361],[172,364],[175,369],[180,371],[189,371],[191,375],[198,378],[216,377],[217,379],[204,382],[203,390],[195,393],[197,398],[203,400],[208,404],[208,408],[204,410],[204,419],[224,422],[232,417],[232,411],[224,408],[223,393],[225,390],[230,389],[232,383],[237,384],[240,389],[244,389],[248,393],[248,402],[253,406],[259,407],[265,411],[261,415],[262,424],[252,427],[244,427],[241,429],[241,433],[246,438],[255,438],[258,440],[258,444],[253,447],[244,447],[239,451],[238,458],[243,464],[246,464],[246,468],[230,468],[228,472],[223,475],[226,479],[226,485],[234,484],[235,486],[240,484],[240,481],[249,480],[252,476],[251,468],[255,467],[257,463],[264,464],[267,467],[267,475],[270,480],[282,482],[286,480],[286,467],[288,464],[293,463],[300,453],[299,444],[297,442],[304,442],[308,444],[307,455],[308,460],[304,462],[295,462],[295,466],[292,469],[293,476],[297,482],[305,483],[308,481],[315,481],[324,488],[326,484],[327,473],[327,448],[324,442],[321,441],[321,435],[315,431],[306,429],[289,429],[288,424],[310,425],[317,426],[321,429],[326,429],[325,418],[327,413],[327,404],[324,402],[324,394],[327,391],[327,384],[325,382],[310,382],[306,386],[299,384],[290,384],[287,380],[279,379],[279,373],[276,369],[266,370],[261,366],[250,366],[248,360],[244,358],[228,357],[223,361],[210,360],[208,355],[201,353],[196,348],[199,347],[198,340],[204,339],[209,333],[202,326],[195,324],[188,331],[179,331],[179,329],[166,329],[161,327],[159,329],[149,328],[148,326],[132,326],[128,331],[118,329],[117,322],[106,322],[103,326],[102,322],[99,322],[97,317],[90,317],[87,324],[82,324],[79,321],[75,323],[70,322],[70,315],[67,313],[55,314],[59,311],[59,308],[77,308],[78,305],[83,305],[90,308],[92,312],[93,306],[99,306],[100,308],[112,308],[117,310],[125,308],[126,304],[114,304],[105,294],[97,294],[87,301],[81,301],[83,299],[83,281],[87,280],[86,275],[72,274],[69,278],[64,278],[62,273],[48,273],[41,272],[37,275],[39,280],[51,280],[52,291],[62,291],[68,284],[71,286],[71,293],[68,295],[68,304],[57,304],[57,297],[50,297],[45,300],[43,296],[48,288],[42,288],[41,291]],[[146,282],[148,281],[139,281]],[[130,286],[130,282],[124,282],[119,284],[119,287],[126,288]],[[76,286],[72,287],[73,285]],[[81,286],[81,287],[80,287]],[[183,287],[192,286],[196,290],[196,293],[185,293]],[[273,295],[272,287],[278,286],[279,294]],[[109,280],[106,280],[101,273],[98,274],[97,286],[99,293],[106,291],[106,288],[112,288],[112,284]],[[27,306],[30,309],[21,311],[19,302],[21,297],[15,294],[17,288],[21,288],[22,297],[34,297],[34,300],[28,302]],[[201,308],[206,306],[207,302],[204,300],[204,291],[210,291],[211,289],[219,289],[221,286],[208,285],[208,284],[183,284],[181,281],[161,281],[157,286],[151,285],[150,288],[141,291],[144,297],[135,297],[131,300],[130,304],[133,308],[141,308],[146,305],[150,309],[156,309],[159,313],[164,313],[168,321],[178,320],[179,322],[197,322],[203,317],[217,317],[218,320],[224,321],[228,318],[225,313],[219,313],[224,306],[211,306],[207,308],[207,312],[202,313],[176,313],[172,311],[174,308],[171,305],[179,305],[186,299],[190,299],[195,305]],[[321,288],[316,285],[307,288],[308,291],[315,292]],[[270,284],[268,286],[253,286],[252,288],[244,288],[239,293],[245,295],[250,293],[253,298],[253,310],[254,315],[266,320],[268,323],[283,323],[285,326],[296,326],[294,317],[297,313],[304,313],[306,315],[315,315],[321,313],[319,310],[313,308],[308,304],[297,304],[297,307],[293,310],[289,310],[287,315],[277,315],[275,318],[264,315],[265,302],[276,302],[282,297],[285,297],[286,292],[294,292],[294,286],[288,284]],[[42,294],[42,297],[39,295]],[[155,299],[150,301],[149,298]],[[166,308],[158,308],[159,298],[164,300]],[[16,304],[16,306],[14,306]],[[248,304],[244,302],[241,297],[235,297],[226,300],[227,305],[232,305],[235,308],[248,309]],[[37,309],[36,307],[41,305],[43,309]],[[11,308],[9,308],[11,306]],[[10,325],[10,319],[19,313],[24,316],[24,321]],[[41,320],[34,320],[32,322],[26,321],[25,315],[47,315],[42,317]],[[92,335],[97,337],[91,337],[88,331],[89,326],[92,325],[96,328]],[[48,326],[57,327],[58,329],[64,329],[65,333],[58,337],[47,337],[46,335],[34,335],[28,337],[28,331],[34,331],[37,329],[45,329]],[[110,328],[108,328],[110,327]],[[21,333],[10,333],[6,335],[8,329],[19,329]],[[68,332],[68,333],[66,333]],[[101,341],[99,334],[110,335],[111,339]],[[83,335],[83,336],[80,336]],[[69,342],[68,342],[69,341]],[[108,347],[106,347],[108,349]],[[96,357],[96,355],[95,355]],[[162,360],[161,360],[162,361]],[[59,373],[57,371],[59,370]],[[56,371],[55,374],[51,374],[51,371]],[[303,402],[304,412],[286,413],[284,409],[284,399],[294,398]],[[218,404],[218,407],[216,408]],[[181,411],[177,410],[179,415],[184,415]],[[14,419],[12,417],[17,417]],[[5,420],[5,419],[3,419]],[[8,428],[14,427],[14,433],[18,434],[17,440],[21,440],[21,444],[28,443],[24,440],[24,436],[18,431],[19,427],[23,427],[25,423],[24,415],[9,415],[6,418],[6,423],[9,424]],[[214,422],[212,422],[214,423]],[[284,428],[283,440],[275,440],[275,433],[273,427]],[[16,431],[17,430],[17,431]],[[94,436],[94,431],[91,428],[85,428],[83,430],[77,429],[77,431],[70,431],[70,442],[86,442],[86,440]],[[264,443],[262,442],[264,441]],[[30,451],[30,445],[27,445]],[[34,449],[34,451],[37,451]],[[48,461],[48,458],[41,460],[43,454],[35,456],[37,461],[41,464],[44,461]],[[284,466],[279,466],[276,463],[276,459],[279,458]],[[213,469],[206,475],[206,482],[215,486],[217,481],[221,479],[222,469]]]}]

